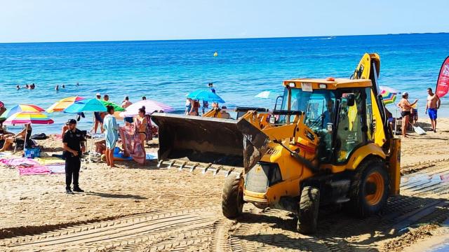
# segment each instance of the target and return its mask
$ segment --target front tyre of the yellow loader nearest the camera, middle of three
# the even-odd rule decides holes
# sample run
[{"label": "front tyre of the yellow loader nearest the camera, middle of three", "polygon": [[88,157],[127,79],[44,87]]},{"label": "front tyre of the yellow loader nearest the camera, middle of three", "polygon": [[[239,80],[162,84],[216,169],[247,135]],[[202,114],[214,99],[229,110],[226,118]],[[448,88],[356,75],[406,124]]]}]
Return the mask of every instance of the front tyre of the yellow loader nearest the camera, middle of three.
[{"label": "front tyre of the yellow loader nearest the camera, middle of three", "polygon": [[320,190],[305,186],[301,192],[300,206],[297,215],[297,231],[302,234],[316,232],[316,221],[320,204]]}]

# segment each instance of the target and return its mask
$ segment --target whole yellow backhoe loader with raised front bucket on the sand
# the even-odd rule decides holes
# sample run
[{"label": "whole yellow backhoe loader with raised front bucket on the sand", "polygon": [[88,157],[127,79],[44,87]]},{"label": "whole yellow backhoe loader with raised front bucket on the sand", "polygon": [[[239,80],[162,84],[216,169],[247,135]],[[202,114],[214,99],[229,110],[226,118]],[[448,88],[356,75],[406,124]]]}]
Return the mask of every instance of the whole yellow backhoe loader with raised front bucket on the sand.
[{"label": "whole yellow backhoe loader with raised front bucket on the sand", "polygon": [[379,94],[379,71],[380,57],[366,54],[351,78],[285,80],[282,104],[271,114],[248,111],[229,120],[155,113],[159,160],[242,167],[225,181],[227,218],[252,203],[292,211],[297,230],[313,233],[320,205],[375,214],[399,193],[401,158]]}]

